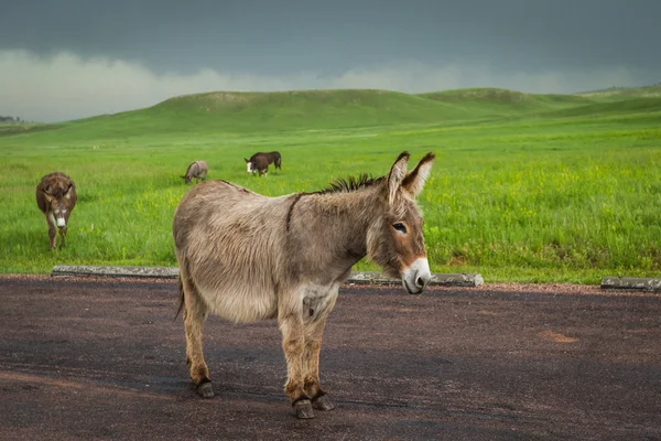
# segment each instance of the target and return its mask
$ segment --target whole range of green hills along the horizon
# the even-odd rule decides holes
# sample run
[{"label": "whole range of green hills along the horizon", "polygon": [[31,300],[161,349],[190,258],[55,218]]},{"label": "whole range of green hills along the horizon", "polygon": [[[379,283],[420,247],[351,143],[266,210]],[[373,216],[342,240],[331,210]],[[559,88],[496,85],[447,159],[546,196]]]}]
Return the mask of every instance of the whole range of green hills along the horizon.
[{"label": "whole range of green hills along the horizon", "polygon": [[[279,93],[215,92],[174,97],[155,106],[57,125],[0,125],[0,137],[29,142],[99,142],[154,135],[267,133],[393,125],[456,126],[511,118],[562,118],[659,110],[661,86],[576,95],[473,88],[429,94],[376,89]],[[17,142],[21,142],[17,140]]]}]

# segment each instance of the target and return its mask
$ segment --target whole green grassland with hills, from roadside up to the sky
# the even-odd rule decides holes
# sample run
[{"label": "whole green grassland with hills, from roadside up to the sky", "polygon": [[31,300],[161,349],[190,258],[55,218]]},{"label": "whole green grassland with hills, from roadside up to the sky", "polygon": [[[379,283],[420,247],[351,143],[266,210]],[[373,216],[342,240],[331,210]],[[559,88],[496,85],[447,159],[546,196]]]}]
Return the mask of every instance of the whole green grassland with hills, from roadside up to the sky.
[{"label": "whole green grassland with hills, from roadside up to the sky", "polygon": [[[242,158],[270,150],[282,171],[246,173]],[[0,270],[175,266],[172,215],[189,189],[178,175],[196,159],[209,179],[281,195],[383,175],[403,150],[412,162],[437,157],[420,198],[433,271],[579,283],[661,273],[661,87],[214,93],[0,126]],[[52,171],[78,189],[67,246],[55,252],[34,197]]]}]

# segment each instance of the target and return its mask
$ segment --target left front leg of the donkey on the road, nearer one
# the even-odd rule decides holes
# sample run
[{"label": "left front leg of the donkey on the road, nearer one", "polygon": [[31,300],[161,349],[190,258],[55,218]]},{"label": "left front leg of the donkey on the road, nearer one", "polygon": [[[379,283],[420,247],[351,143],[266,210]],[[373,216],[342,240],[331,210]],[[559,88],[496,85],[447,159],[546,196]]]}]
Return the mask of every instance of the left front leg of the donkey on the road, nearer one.
[{"label": "left front leg of the donkey on the road, nearer one", "polygon": [[305,337],[303,333],[303,320],[301,311],[294,308],[280,309],[278,314],[280,331],[282,332],[282,349],[286,359],[288,378],[284,392],[294,407],[299,418],[314,418],[312,402],[305,394],[303,383],[303,351]]}]

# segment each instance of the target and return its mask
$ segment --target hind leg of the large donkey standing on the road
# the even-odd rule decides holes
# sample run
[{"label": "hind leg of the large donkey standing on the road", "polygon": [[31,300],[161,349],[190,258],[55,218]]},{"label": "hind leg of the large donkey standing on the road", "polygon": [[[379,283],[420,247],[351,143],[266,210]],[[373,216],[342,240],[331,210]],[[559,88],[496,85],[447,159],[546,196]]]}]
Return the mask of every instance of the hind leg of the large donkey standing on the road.
[{"label": "hind leg of the large donkey standing on the road", "polygon": [[184,302],[184,329],[186,332],[186,364],[191,379],[197,387],[197,392],[204,398],[214,396],[214,387],[209,379],[209,369],[204,362],[202,351],[202,331],[208,315],[208,308],[199,297],[193,281],[180,272],[180,290]]}]

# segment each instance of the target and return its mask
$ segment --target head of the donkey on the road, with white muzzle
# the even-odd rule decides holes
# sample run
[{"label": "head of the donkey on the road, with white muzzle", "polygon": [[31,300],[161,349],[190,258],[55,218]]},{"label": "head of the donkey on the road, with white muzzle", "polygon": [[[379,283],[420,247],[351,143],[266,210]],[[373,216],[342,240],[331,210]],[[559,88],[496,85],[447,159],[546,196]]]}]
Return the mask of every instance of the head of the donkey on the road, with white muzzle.
[{"label": "head of the donkey on the road, with white muzzle", "polygon": [[399,155],[382,182],[384,213],[371,225],[367,236],[370,259],[392,277],[401,277],[411,294],[420,294],[432,275],[422,234],[422,214],[415,197],[430,175],[434,153],[427,153],[407,173],[409,153]]}]

